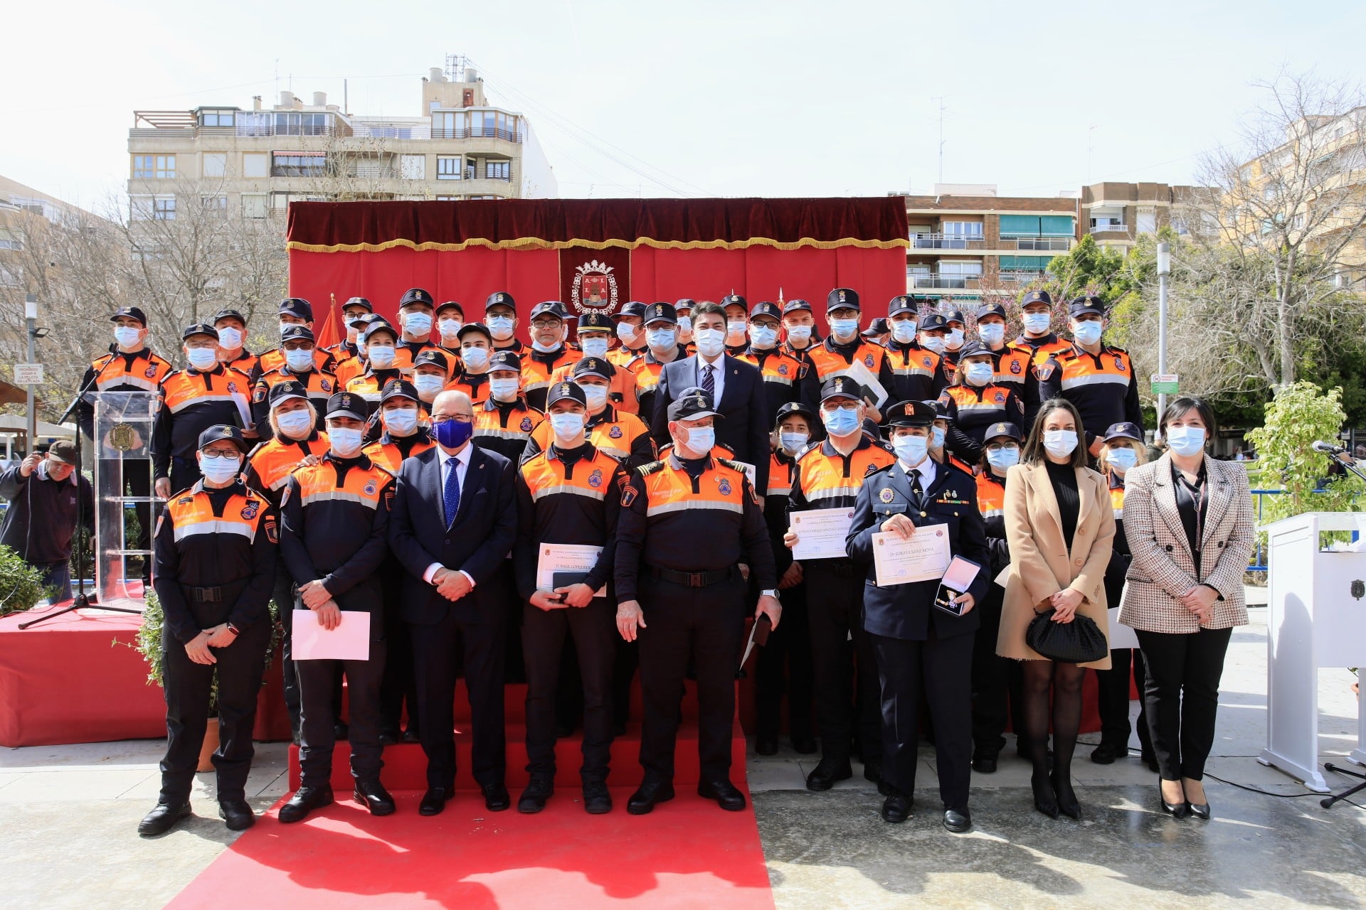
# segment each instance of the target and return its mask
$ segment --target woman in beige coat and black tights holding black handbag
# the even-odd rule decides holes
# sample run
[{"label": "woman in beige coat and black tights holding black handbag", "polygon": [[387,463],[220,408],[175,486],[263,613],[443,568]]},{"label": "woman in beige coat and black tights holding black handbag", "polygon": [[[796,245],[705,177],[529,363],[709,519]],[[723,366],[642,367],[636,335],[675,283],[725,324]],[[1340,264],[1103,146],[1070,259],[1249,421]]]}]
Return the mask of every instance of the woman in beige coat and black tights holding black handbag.
[{"label": "woman in beige coat and black tights holding black handbag", "polygon": [[[1053,622],[1081,614],[1106,630],[1105,566],[1115,540],[1115,513],[1105,479],[1086,467],[1082,419],[1071,402],[1045,401],[1030,428],[1020,463],[1005,482],[1005,539],[1011,568],[996,652],[1023,660],[1024,735],[1034,763],[1034,808],[1056,819],[1082,816],[1072,790],[1072,753],[1082,722],[1085,667],[1109,670],[1109,651],[1094,663],[1055,663],[1024,643],[1038,613]],[[1052,712],[1049,711],[1052,694]],[[1053,774],[1048,772],[1048,726],[1053,722]]]}]

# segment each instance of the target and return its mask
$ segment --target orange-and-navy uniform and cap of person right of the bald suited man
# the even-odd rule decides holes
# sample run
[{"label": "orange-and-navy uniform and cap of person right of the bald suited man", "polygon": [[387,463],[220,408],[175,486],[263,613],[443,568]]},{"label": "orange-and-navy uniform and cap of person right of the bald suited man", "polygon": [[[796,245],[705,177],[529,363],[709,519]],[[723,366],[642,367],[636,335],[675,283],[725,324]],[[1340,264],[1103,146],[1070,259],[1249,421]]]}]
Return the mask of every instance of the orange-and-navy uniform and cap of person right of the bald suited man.
[{"label": "orange-and-navy uniform and cap of person right of the bald suited man", "polygon": [[[561,397],[555,386],[549,401]],[[582,392],[571,386],[574,392]],[[578,400],[578,397],[575,397]],[[581,401],[582,404],[582,401]],[[578,544],[602,551],[583,584],[594,592],[612,580],[617,512],[626,472],[612,456],[590,442],[563,449],[559,442],[529,454],[518,468],[518,542],[514,550],[522,608],[522,652],[526,664],[526,749],[533,780],[555,779],[556,685],[563,681],[561,655],[572,640],[583,694],[585,786],[607,780],[612,746],[612,664],[616,606],[594,596],[585,607],[541,610],[530,602],[537,584],[538,544]]]}]

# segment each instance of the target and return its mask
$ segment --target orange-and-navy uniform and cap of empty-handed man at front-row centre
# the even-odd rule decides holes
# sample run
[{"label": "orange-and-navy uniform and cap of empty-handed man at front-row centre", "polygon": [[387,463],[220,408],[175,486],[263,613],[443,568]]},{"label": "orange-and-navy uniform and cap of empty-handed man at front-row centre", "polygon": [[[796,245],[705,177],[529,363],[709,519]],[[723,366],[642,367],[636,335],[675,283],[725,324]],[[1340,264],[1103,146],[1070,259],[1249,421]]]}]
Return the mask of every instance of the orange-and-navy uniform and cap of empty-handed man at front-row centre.
[{"label": "orange-and-navy uniform and cap of empty-handed man at front-row centre", "polygon": [[[710,413],[710,396],[702,392],[688,393],[669,409],[673,420]],[[738,463],[669,454],[632,471],[619,495],[616,600],[639,602],[647,623],[638,633],[645,701],[642,790],[646,784],[664,789],[658,801],[672,793],[679,700],[690,656],[697,671],[702,782],[728,779],[746,613],[738,566],[747,563],[765,591],[777,587],[777,574],[764,513]],[[699,540],[708,546],[699,547]]]}]

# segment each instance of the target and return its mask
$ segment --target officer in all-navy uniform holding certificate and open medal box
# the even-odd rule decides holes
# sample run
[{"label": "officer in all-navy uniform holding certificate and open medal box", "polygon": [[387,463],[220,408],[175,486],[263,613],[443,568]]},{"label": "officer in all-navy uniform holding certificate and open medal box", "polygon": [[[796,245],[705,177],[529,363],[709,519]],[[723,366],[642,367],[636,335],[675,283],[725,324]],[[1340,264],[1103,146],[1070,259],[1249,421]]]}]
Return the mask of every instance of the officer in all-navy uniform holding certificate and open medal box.
[{"label": "officer in all-navy uniform holding certificate and open medal box", "polygon": [[[973,827],[967,789],[973,761],[973,607],[986,596],[986,527],[977,509],[977,483],[951,464],[929,457],[934,409],[902,401],[887,413],[896,463],[863,479],[854,505],[846,548],[867,565],[863,629],[873,639],[882,684],[882,780],[885,821],[906,821],[915,790],[917,731],[923,693],[934,722],[934,752],[944,801],[944,827]],[[949,553],[981,569],[967,591],[941,589],[934,581],[878,587],[873,535],[947,533]],[[952,604],[949,613],[936,600]]]}]

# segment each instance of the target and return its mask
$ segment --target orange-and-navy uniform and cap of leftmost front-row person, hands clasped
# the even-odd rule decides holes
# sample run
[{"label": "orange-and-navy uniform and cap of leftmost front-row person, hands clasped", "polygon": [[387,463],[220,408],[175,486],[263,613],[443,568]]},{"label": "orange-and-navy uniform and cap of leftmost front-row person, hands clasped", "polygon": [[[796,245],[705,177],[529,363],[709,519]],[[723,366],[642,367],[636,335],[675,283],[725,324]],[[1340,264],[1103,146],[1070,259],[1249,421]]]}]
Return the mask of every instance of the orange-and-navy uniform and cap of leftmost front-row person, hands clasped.
[{"label": "orange-and-navy uniform and cap of leftmost front-row person, hands clasped", "polygon": [[[197,449],[231,439],[246,450],[232,426],[205,427]],[[254,749],[257,696],[270,644],[270,591],[279,528],[265,497],[240,480],[223,488],[197,482],[167,502],[157,520],[153,587],[161,602],[163,688],[167,753],[161,760],[160,802],[190,798],[217,679],[219,748],[213,753],[219,802],[245,805]],[[217,663],[190,660],[184,645],[201,630],[227,622],[236,637],[213,648]],[[247,821],[246,824],[250,824]]]}]

